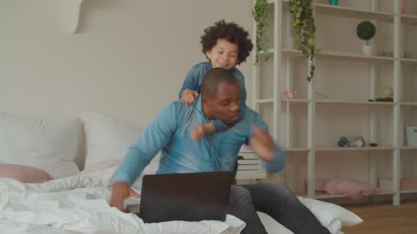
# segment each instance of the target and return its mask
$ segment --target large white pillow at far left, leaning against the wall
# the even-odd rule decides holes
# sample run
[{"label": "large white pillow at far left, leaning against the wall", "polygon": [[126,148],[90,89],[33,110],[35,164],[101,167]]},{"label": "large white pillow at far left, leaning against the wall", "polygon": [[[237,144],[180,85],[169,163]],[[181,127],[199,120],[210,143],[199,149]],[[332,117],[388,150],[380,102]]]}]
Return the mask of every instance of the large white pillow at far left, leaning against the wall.
[{"label": "large white pillow at far left, leaning against the wall", "polygon": [[80,121],[43,120],[0,112],[0,163],[32,166],[54,178],[80,172],[77,153]]}]

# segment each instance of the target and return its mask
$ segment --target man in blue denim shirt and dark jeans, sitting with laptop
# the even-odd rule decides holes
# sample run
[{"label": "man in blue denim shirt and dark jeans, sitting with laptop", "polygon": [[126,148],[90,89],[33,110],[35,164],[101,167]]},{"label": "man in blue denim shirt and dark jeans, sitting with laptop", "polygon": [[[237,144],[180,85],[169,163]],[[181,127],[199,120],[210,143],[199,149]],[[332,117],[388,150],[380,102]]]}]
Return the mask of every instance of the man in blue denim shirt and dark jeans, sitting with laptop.
[{"label": "man in blue denim shirt and dark jeans, sitting with laptop", "polygon": [[[267,125],[251,109],[237,125],[221,133],[191,139],[195,125],[211,120],[234,122],[239,112],[239,85],[230,70],[213,68],[204,75],[201,96],[193,106],[175,101],[154,118],[129,148],[115,172],[110,205],[123,210],[123,200],[139,197],[130,185],[154,155],[161,152],[158,174],[232,171],[242,144],[249,140],[268,172],[278,172],[285,153],[274,144]],[[257,212],[268,213],[294,233],[329,233],[285,187],[276,183],[232,186],[228,213],[246,222],[242,233],[267,233]],[[302,225],[300,224],[302,222]]]}]

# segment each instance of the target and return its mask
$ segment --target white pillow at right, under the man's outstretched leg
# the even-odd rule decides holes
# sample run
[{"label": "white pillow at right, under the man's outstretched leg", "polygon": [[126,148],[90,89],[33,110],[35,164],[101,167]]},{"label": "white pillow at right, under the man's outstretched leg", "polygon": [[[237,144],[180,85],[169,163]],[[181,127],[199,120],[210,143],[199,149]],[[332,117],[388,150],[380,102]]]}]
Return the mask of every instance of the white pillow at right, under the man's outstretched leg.
[{"label": "white pillow at right, under the man's outstretched leg", "polygon": [[300,202],[304,204],[310,211],[318,218],[323,226],[330,226],[333,220],[339,220],[343,226],[354,226],[364,222],[355,213],[335,205],[332,203],[325,203],[321,200],[311,198],[298,197]]}]

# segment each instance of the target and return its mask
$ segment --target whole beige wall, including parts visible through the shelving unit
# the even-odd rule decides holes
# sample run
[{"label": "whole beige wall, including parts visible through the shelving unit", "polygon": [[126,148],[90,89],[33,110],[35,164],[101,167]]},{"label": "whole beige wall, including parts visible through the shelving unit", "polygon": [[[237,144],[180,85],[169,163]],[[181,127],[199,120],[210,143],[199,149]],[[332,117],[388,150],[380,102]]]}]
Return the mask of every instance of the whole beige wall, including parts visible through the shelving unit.
[{"label": "whole beige wall, including parts visible through the shelving unit", "polygon": [[[143,126],[152,120],[158,109],[176,99],[187,70],[205,60],[199,43],[205,27],[225,18],[252,33],[252,0],[86,0],[77,34],[66,31],[63,17],[71,14],[59,12],[62,8],[58,4],[63,1],[0,1],[0,110],[29,116],[72,118],[88,109]],[[384,1],[390,4],[390,0]],[[369,8],[369,1],[342,3]],[[331,17],[318,18],[320,30],[327,29],[323,35],[318,35],[318,47],[340,49],[342,44],[342,49],[359,52],[363,42],[355,35],[358,22],[346,19],[345,30],[333,22]],[[346,34],[341,37],[345,40],[327,37],[333,29],[338,34]],[[378,34],[377,39],[384,40],[383,35],[388,34]],[[412,38],[408,41],[411,44]],[[392,44],[392,39],[388,44]],[[272,65],[272,62],[271,58],[267,63]],[[304,64],[307,64],[305,60],[296,64],[299,69],[294,77],[294,86],[301,98],[307,97]],[[355,73],[350,65],[355,66]],[[368,98],[368,66],[318,61],[319,66],[315,79],[321,92],[342,99],[351,97],[355,90],[357,99]],[[271,69],[261,71],[265,77],[272,73],[272,66],[267,67]],[[252,57],[239,68],[246,77],[248,103],[251,103]],[[381,82],[388,79],[383,76],[383,70],[379,74],[382,75]],[[344,79],[352,80],[349,88],[333,89]],[[270,98],[271,82],[264,81],[261,98]],[[267,122],[272,120],[272,115],[267,116],[270,107],[262,107]],[[368,114],[367,109],[359,109],[361,115]],[[294,146],[306,146],[307,106],[300,105],[293,110],[294,116],[298,116],[294,119]],[[385,114],[385,109],[382,112]],[[325,118],[327,115],[330,118]],[[330,122],[329,129],[333,131],[329,131],[326,127],[333,119],[352,121],[351,116],[319,110],[317,124],[323,132],[315,138],[316,143],[332,144],[331,141],[340,135],[349,133],[368,137],[367,131],[361,131],[368,129],[368,122],[359,121],[354,129],[347,129],[350,125]],[[381,117],[381,121],[383,129],[390,132],[391,118]],[[388,141],[383,135],[380,139]],[[354,179],[367,179],[367,157],[333,156],[318,155],[318,176],[348,177],[360,166],[361,173],[355,174]],[[288,158],[290,186],[301,192],[307,173],[307,155],[293,153]],[[345,163],[349,165],[346,170],[337,171]],[[390,165],[388,163],[385,168]]]}]

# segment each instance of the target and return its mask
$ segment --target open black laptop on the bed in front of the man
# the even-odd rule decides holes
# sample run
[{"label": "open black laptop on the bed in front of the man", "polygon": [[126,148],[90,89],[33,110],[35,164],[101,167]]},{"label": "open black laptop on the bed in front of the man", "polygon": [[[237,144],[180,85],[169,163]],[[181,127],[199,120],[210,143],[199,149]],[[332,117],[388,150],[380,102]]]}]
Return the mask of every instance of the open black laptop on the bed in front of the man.
[{"label": "open black laptop on the bed in front of the man", "polygon": [[146,223],[182,220],[226,220],[230,172],[147,174],[141,204],[127,209]]}]

